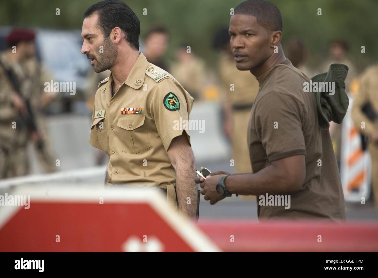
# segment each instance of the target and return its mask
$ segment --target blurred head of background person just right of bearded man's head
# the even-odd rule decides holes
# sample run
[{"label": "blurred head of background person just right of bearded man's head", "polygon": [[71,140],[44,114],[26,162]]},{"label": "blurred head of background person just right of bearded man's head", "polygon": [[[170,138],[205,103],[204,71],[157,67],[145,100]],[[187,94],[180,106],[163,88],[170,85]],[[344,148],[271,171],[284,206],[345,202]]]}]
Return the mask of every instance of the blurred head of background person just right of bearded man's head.
[{"label": "blurred head of background person just right of bearded man's head", "polygon": [[163,56],[167,51],[169,41],[168,30],[162,26],[156,26],[147,31],[144,38],[143,54],[147,61],[169,71],[167,64],[163,60]]}]

